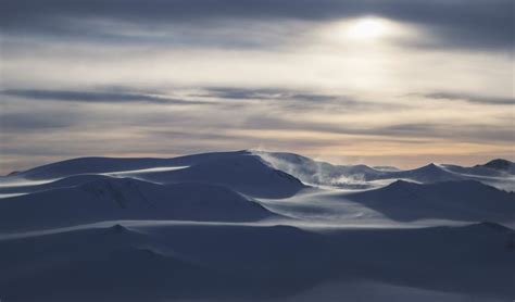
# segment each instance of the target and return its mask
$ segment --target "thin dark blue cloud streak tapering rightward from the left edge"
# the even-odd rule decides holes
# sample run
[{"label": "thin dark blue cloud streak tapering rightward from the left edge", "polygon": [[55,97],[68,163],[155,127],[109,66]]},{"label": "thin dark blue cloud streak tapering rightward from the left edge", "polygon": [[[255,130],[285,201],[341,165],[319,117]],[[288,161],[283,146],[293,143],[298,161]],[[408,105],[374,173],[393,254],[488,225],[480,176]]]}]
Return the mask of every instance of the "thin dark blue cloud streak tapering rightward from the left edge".
[{"label": "thin dark blue cloud streak tapering rightward from the left edge", "polygon": [[93,92],[72,90],[38,90],[38,89],[7,89],[1,95],[20,97],[33,100],[51,100],[63,102],[89,102],[89,103],[134,103],[147,102],[154,104],[208,104],[202,101],[185,101],[143,93],[126,92]]}]

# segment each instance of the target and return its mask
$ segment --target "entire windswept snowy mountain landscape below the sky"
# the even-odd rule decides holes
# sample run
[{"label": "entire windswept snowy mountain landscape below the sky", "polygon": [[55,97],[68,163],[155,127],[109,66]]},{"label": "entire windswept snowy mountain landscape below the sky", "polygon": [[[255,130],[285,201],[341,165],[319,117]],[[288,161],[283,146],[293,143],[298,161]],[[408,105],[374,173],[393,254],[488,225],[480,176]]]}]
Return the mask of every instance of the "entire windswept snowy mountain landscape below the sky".
[{"label": "entire windswept snowy mountain landscape below the sky", "polygon": [[84,158],[0,177],[2,301],[513,301],[513,163]]}]

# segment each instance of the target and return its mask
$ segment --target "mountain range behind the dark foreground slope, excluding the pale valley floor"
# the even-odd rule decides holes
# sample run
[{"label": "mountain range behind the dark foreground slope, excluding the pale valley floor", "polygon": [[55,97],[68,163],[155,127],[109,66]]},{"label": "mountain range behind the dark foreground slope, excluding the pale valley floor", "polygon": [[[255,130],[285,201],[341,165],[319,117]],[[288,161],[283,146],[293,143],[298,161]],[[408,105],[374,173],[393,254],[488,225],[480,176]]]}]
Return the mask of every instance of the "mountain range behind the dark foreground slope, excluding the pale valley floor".
[{"label": "mountain range behind the dark foreground slope, excluding the pale valley floor", "polygon": [[0,228],[120,219],[284,218],[255,199],[291,198],[318,186],[354,190],[349,200],[398,221],[504,222],[514,218],[514,196],[490,186],[513,186],[512,171],[513,163],[505,160],[474,167],[429,164],[400,171],[262,151],[175,159],[83,158],[1,178]]}]

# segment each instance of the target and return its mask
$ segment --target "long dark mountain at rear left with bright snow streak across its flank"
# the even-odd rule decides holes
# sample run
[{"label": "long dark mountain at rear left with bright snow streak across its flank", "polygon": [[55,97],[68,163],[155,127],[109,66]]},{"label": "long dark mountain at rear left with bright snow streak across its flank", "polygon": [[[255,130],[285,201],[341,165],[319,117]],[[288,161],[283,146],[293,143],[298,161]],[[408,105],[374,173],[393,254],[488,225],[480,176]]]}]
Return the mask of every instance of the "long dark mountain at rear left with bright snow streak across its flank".
[{"label": "long dark mountain at rear left with bright snow streak across its flank", "polygon": [[[46,188],[56,188],[71,176],[102,174],[133,177],[159,184],[201,183],[221,185],[252,197],[285,198],[296,194],[305,186],[291,175],[275,169],[261,158],[247,151],[205,153],[175,159],[109,159],[83,158],[36,167],[3,177],[2,183],[12,183],[0,192],[26,192],[28,180],[49,179]],[[16,186],[16,180],[24,183]],[[40,185],[36,183],[36,185]],[[71,181],[71,180],[66,180]],[[77,179],[75,179],[77,181]]]}]

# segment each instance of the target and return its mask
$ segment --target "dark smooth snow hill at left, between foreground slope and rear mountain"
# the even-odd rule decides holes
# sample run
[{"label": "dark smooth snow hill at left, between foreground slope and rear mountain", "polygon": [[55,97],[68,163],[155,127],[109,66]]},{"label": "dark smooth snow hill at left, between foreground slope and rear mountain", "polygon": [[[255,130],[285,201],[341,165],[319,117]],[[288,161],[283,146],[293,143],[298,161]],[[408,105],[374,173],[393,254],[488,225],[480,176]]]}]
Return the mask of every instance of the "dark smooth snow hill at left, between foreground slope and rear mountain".
[{"label": "dark smooth snow hill at left, between foreground slope and rear mountain", "polygon": [[[278,217],[259,203],[216,185],[79,177],[86,179],[77,186],[2,199],[0,229],[45,229],[116,219],[248,222]],[[70,179],[60,181],[66,180]]]}]

